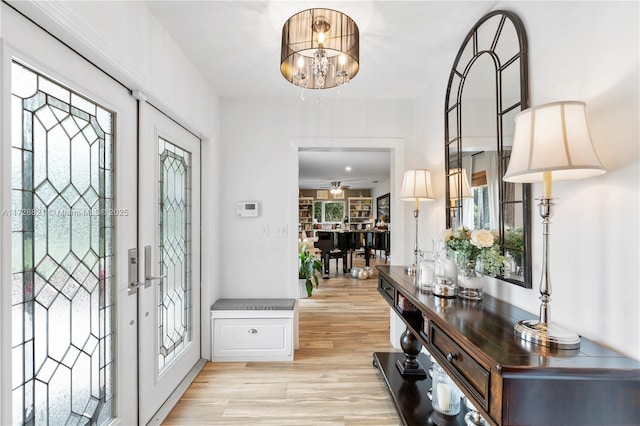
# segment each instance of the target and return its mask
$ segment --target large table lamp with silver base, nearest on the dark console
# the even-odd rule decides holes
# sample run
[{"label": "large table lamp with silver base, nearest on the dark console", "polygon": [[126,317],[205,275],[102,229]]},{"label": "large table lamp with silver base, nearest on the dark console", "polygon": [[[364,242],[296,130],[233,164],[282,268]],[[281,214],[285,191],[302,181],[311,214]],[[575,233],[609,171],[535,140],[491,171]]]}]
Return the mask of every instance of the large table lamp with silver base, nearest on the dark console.
[{"label": "large table lamp with silver base, nearest on the dark console", "polygon": [[596,154],[584,102],[554,102],[521,111],[515,117],[513,148],[506,182],[543,182],[538,204],[542,217],[542,277],[540,318],[516,323],[515,332],[530,343],[554,349],[578,349],[580,337],[551,323],[549,275],[549,218],[553,180],[582,179],[605,173]]}]

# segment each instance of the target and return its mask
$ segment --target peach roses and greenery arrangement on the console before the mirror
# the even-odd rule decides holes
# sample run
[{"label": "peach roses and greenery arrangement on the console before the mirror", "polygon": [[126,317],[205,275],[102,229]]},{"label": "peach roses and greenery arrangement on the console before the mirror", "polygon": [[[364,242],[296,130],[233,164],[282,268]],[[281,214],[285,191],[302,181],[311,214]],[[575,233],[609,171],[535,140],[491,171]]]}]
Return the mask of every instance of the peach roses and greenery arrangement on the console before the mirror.
[{"label": "peach roses and greenery arrangement on the console before the mirror", "polygon": [[446,229],[443,241],[448,251],[456,254],[458,268],[467,276],[473,276],[476,269],[483,274],[495,277],[500,275],[505,257],[495,244],[495,235],[486,229],[462,227],[455,232]]}]

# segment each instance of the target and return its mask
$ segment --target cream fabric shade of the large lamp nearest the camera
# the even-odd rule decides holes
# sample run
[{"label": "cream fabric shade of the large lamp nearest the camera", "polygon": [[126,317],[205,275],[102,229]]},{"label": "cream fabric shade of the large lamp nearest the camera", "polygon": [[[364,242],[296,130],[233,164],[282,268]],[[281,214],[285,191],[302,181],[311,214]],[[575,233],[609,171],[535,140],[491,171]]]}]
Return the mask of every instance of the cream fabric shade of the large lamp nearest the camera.
[{"label": "cream fabric shade of the large lamp nearest the camera", "polygon": [[582,179],[605,173],[593,148],[585,103],[554,102],[516,115],[507,182]]}]

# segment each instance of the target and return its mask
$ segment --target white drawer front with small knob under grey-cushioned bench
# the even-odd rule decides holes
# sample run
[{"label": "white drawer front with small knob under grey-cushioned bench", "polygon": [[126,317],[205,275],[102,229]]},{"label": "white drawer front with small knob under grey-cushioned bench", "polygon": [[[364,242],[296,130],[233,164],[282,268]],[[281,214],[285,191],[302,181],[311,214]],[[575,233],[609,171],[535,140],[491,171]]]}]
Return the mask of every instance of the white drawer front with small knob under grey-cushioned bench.
[{"label": "white drawer front with small knob under grey-cushioned bench", "polygon": [[251,318],[214,320],[214,357],[289,355],[291,320]]}]

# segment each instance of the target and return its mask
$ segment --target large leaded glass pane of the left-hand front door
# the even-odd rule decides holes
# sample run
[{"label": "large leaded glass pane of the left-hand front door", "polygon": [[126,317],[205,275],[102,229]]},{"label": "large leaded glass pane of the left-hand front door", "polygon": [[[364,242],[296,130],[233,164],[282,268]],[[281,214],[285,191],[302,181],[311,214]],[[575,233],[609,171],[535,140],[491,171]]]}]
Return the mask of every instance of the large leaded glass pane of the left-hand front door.
[{"label": "large leaded glass pane of the left-hand front door", "polygon": [[13,424],[114,412],[114,114],[14,62]]}]

